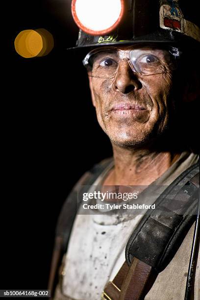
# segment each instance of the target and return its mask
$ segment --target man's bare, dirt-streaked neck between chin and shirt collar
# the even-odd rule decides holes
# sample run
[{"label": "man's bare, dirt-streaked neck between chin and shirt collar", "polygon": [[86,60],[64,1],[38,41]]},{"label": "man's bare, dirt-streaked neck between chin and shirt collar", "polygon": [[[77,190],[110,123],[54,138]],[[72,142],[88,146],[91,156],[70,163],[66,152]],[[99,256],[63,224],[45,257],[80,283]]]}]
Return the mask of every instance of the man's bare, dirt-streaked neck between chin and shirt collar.
[{"label": "man's bare, dirt-streaked neck between chin and shirt collar", "polygon": [[104,185],[149,185],[170,168],[180,153],[113,145],[113,155],[115,167]]}]

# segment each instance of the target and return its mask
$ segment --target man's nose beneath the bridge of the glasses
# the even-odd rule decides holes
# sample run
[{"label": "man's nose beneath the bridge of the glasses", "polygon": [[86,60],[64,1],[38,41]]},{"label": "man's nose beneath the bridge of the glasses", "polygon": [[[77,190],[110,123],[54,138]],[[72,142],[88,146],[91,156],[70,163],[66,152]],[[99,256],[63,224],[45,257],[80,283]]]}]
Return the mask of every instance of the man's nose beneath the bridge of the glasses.
[{"label": "man's nose beneath the bridge of the glasses", "polygon": [[113,82],[113,89],[117,92],[128,94],[134,90],[139,90],[142,83],[139,81],[135,72],[133,72],[126,59],[120,61],[115,80]]}]

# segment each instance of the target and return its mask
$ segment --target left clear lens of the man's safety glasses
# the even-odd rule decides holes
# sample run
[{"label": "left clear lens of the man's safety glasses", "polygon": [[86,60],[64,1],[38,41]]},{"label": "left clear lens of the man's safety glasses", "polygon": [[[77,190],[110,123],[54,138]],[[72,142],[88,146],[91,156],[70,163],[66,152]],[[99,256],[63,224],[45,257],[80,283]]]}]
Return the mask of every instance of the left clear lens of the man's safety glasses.
[{"label": "left clear lens of the man's safety glasses", "polygon": [[100,50],[92,53],[88,58],[88,75],[99,78],[115,76],[119,64],[117,50]]}]

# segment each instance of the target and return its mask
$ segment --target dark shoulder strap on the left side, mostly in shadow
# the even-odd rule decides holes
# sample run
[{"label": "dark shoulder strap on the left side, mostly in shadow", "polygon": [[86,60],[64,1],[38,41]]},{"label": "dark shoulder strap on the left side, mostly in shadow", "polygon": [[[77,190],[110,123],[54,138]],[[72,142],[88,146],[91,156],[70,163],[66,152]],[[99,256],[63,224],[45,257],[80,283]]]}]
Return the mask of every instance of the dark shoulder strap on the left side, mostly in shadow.
[{"label": "dark shoulder strap on the left side, mostly in shadow", "polygon": [[[71,193],[63,204],[55,231],[55,243],[51,259],[50,277],[48,288],[53,295],[55,284],[57,282],[58,267],[61,264],[62,256],[67,250],[70,233],[75,220],[75,215],[80,203],[77,201],[79,189],[85,185],[92,185],[103,170],[113,162],[113,158],[106,158],[99,164],[93,166],[91,170],[86,172],[75,184]],[[87,187],[85,187],[87,189]],[[82,189],[83,191],[83,189]]]}]

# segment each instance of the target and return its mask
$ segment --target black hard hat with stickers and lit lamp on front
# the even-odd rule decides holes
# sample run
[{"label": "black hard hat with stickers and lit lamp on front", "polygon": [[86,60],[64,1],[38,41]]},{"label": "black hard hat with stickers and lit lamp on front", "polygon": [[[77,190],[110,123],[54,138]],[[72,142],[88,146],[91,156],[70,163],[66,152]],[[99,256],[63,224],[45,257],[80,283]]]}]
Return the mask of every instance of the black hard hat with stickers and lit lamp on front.
[{"label": "black hard hat with stickers and lit lamp on front", "polygon": [[[71,49],[136,43],[196,47],[200,45],[200,27],[198,12],[192,2],[193,0],[73,0],[72,13],[80,29],[76,47]],[[108,3],[116,3],[120,7],[115,9],[115,17]],[[107,20],[109,14],[111,20]]]}]

